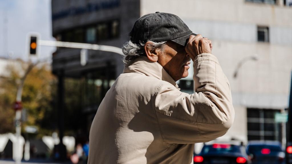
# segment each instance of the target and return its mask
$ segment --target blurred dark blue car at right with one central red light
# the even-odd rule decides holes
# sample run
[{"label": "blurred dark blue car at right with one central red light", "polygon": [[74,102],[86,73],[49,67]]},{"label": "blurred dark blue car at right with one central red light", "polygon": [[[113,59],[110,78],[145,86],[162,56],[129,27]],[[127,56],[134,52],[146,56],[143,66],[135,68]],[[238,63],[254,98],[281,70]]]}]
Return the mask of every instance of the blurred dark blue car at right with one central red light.
[{"label": "blurred dark blue car at right with one central red light", "polygon": [[278,141],[250,141],[246,153],[253,164],[284,164],[285,153]]}]

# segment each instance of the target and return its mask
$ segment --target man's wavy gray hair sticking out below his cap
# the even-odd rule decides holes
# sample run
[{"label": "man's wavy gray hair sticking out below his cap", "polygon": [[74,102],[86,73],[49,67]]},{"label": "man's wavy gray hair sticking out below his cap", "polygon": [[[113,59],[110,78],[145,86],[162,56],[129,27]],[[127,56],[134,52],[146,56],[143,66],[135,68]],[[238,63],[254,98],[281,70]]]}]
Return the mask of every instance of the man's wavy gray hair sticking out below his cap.
[{"label": "man's wavy gray hair sticking out below his cap", "polygon": [[[164,52],[164,47],[166,45],[166,41],[163,42],[153,42],[150,41],[151,44],[147,44],[147,48],[150,50],[160,49]],[[123,62],[125,66],[128,66],[140,56],[145,56],[145,43],[135,44],[132,41],[127,41],[123,46]]]}]

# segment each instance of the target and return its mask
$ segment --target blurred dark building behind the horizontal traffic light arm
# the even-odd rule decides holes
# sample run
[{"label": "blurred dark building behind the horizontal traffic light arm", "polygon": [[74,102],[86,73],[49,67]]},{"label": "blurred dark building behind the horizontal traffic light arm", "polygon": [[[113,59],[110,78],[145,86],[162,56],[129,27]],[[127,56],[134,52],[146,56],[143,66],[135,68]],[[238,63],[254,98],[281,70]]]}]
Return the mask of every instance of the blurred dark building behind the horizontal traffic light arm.
[{"label": "blurred dark building behind the horizontal traffic light arm", "polygon": [[[128,33],[134,22],[140,17],[140,1],[52,0],[51,4],[52,34],[57,41],[121,48],[129,39]],[[57,48],[53,53],[52,72],[59,82],[56,97],[58,103],[55,106],[60,141],[64,132],[69,131],[66,129],[66,121],[72,122],[73,119],[76,122],[76,142],[84,143],[88,140],[90,125],[100,102],[124,69],[121,55],[117,53],[88,50],[86,64],[81,64],[80,54],[81,49],[76,48]],[[78,86],[72,87],[72,81]],[[79,98],[74,99],[75,105],[72,105],[66,102],[68,97]],[[70,101],[72,103],[72,99]],[[68,109],[75,114],[66,115]],[[70,116],[72,118],[68,118]]]}]

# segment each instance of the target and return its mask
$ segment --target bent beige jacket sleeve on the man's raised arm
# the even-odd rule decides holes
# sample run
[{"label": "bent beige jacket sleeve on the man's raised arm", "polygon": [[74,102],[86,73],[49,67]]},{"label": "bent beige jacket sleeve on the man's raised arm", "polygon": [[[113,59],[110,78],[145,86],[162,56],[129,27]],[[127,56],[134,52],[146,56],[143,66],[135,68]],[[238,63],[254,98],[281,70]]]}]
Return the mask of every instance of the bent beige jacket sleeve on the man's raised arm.
[{"label": "bent beige jacket sleeve on the man's raised arm", "polygon": [[191,95],[166,82],[157,90],[155,110],[164,142],[208,142],[223,136],[233,123],[230,85],[218,59],[209,53],[198,55],[193,79]]}]

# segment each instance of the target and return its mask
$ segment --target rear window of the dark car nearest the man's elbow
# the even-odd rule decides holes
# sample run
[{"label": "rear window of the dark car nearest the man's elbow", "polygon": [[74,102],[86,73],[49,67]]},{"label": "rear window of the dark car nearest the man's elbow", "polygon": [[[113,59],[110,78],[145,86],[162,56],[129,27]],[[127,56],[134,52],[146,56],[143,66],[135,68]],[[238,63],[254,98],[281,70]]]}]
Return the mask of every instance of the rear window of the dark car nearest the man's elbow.
[{"label": "rear window of the dark car nearest the man's elbow", "polygon": [[205,145],[201,153],[240,153],[240,146],[230,144]]}]

